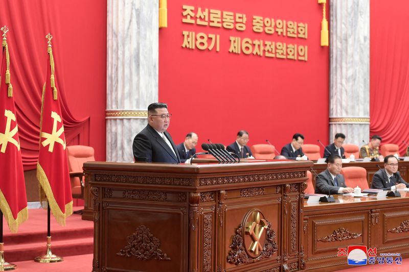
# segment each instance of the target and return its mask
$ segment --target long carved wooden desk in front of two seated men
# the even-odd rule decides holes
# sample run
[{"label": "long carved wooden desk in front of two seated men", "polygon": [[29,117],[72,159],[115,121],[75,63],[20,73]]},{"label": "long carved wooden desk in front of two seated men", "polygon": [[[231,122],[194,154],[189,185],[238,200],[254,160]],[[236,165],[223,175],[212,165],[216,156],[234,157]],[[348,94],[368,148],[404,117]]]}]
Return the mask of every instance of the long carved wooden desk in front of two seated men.
[{"label": "long carved wooden desk in front of two seated men", "polygon": [[[409,193],[401,197],[334,195],[335,203],[307,204],[304,200],[303,247],[308,270],[350,268],[337,248],[366,245],[379,253],[409,256]],[[379,266],[377,266],[379,267]]]}]

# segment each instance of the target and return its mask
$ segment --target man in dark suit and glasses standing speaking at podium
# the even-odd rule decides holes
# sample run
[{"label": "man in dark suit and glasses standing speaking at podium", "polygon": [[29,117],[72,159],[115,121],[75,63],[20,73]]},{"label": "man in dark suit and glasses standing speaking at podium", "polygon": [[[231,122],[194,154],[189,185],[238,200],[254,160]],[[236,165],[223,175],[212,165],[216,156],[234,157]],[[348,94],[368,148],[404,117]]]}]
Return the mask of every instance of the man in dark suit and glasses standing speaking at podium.
[{"label": "man in dark suit and glasses standing speaking at podium", "polygon": [[171,116],[165,103],[152,103],[148,106],[148,125],[133,139],[135,161],[180,162],[176,145],[166,131]]}]

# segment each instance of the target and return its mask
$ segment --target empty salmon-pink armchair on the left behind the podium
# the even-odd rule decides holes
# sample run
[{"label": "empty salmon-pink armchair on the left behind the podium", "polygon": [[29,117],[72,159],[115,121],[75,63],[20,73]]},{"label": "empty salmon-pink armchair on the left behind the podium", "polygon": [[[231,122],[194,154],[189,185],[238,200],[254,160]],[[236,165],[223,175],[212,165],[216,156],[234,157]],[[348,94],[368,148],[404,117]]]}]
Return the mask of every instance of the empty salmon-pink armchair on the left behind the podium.
[{"label": "empty salmon-pink armchair on the left behind the podium", "polygon": [[[68,168],[70,172],[82,172],[84,162],[95,161],[93,147],[86,145],[70,145],[66,148]],[[81,198],[81,182],[78,177],[71,178],[71,190],[74,198]]]}]

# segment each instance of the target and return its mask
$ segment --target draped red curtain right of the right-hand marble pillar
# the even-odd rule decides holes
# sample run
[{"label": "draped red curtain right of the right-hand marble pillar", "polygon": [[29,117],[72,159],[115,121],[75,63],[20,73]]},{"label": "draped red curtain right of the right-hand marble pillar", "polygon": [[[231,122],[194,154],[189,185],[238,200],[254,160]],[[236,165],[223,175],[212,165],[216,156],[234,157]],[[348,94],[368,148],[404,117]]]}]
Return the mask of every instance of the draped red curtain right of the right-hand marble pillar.
[{"label": "draped red curtain right of the right-hand marble pillar", "polygon": [[405,0],[370,3],[370,134],[398,144],[401,155],[409,142],[408,12]]}]

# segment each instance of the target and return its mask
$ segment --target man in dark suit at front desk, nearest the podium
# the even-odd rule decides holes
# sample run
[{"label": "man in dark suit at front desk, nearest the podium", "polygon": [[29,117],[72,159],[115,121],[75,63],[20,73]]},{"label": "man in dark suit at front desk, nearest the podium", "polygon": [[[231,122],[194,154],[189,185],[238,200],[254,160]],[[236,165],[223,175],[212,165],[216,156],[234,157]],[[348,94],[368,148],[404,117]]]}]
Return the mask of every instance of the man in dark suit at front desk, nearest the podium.
[{"label": "man in dark suit at front desk, nearest the podium", "polygon": [[339,174],[341,168],[341,157],[338,155],[329,156],[327,158],[327,169],[318,174],[315,179],[315,193],[328,194],[328,189],[331,194],[352,193],[354,189],[347,187],[344,176]]}]

